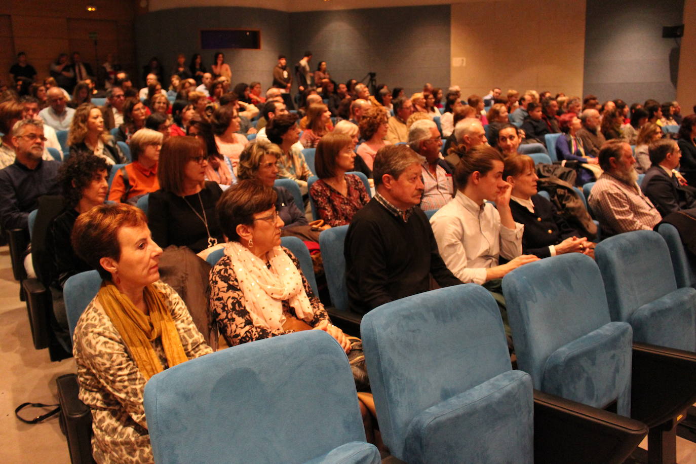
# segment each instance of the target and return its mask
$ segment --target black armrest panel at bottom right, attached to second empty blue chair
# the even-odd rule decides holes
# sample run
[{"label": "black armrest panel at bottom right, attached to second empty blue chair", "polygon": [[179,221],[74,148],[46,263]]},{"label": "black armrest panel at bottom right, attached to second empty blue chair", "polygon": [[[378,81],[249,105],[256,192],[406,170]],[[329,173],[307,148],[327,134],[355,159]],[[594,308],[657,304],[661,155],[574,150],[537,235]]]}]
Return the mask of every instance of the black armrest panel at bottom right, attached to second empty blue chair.
[{"label": "black armrest panel at bottom right, attached to second empty blue chair", "polygon": [[538,463],[623,463],[647,433],[635,419],[534,390]]}]

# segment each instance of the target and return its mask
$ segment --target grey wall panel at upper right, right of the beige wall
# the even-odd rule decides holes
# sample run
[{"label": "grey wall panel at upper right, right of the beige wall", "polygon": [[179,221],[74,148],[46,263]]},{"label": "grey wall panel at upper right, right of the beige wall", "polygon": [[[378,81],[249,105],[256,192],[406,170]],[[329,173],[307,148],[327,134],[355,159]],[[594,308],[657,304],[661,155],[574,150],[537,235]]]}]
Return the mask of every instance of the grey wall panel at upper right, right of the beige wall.
[{"label": "grey wall panel at upper right, right of the beige wall", "polygon": [[683,0],[587,0],[585,95],[628,104],[673,100],[679,48],[662,38],[662,26],[681,24],[683,6]]}]

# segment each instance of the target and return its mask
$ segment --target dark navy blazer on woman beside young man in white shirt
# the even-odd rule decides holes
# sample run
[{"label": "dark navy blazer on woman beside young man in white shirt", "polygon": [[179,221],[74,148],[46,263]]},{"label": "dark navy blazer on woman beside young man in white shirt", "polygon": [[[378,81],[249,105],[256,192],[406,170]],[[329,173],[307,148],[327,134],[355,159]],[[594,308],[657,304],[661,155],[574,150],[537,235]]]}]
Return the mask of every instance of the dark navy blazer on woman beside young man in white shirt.
[{"label": "dark navy blazer on woman beside young man in white shirt", "polygon": [[534,213],[515,200],[510,200],[512,218],[524,225],[522,253],[540,258],[551,256],[549,245],[557,245],[568,237],[583,237],[563,216],[558,214],[553,203],[541,195],[532,195]]}]

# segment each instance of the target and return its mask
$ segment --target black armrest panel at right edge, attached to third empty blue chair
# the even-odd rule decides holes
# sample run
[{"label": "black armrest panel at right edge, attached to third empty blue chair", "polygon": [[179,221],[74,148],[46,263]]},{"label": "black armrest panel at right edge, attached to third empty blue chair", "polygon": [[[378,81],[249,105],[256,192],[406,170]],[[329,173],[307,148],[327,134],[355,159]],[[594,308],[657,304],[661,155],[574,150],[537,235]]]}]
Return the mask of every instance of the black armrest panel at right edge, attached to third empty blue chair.
[{"label": "black armrest panel at right edge, attached to third empty blue chair", "polygon": [[674,426],[693,403],[696,353],[633,343],[631,417],[650,428],[665,422]]}]

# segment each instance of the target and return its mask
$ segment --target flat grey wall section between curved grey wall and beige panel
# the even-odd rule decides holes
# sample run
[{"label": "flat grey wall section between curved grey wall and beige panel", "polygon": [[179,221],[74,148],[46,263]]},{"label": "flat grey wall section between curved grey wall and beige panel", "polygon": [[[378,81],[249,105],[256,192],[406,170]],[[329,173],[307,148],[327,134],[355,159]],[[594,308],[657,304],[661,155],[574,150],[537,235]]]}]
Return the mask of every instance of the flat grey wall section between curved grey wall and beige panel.
[{"label": "flat grey wall section between curved grey wall and beige panel", "polygon": [[449,5],[291,13],[290,28],[292,56],[312,51],[312,69],[326,61],[337,82],[372,71],[409,96],[425,82],[450,86]]}]

